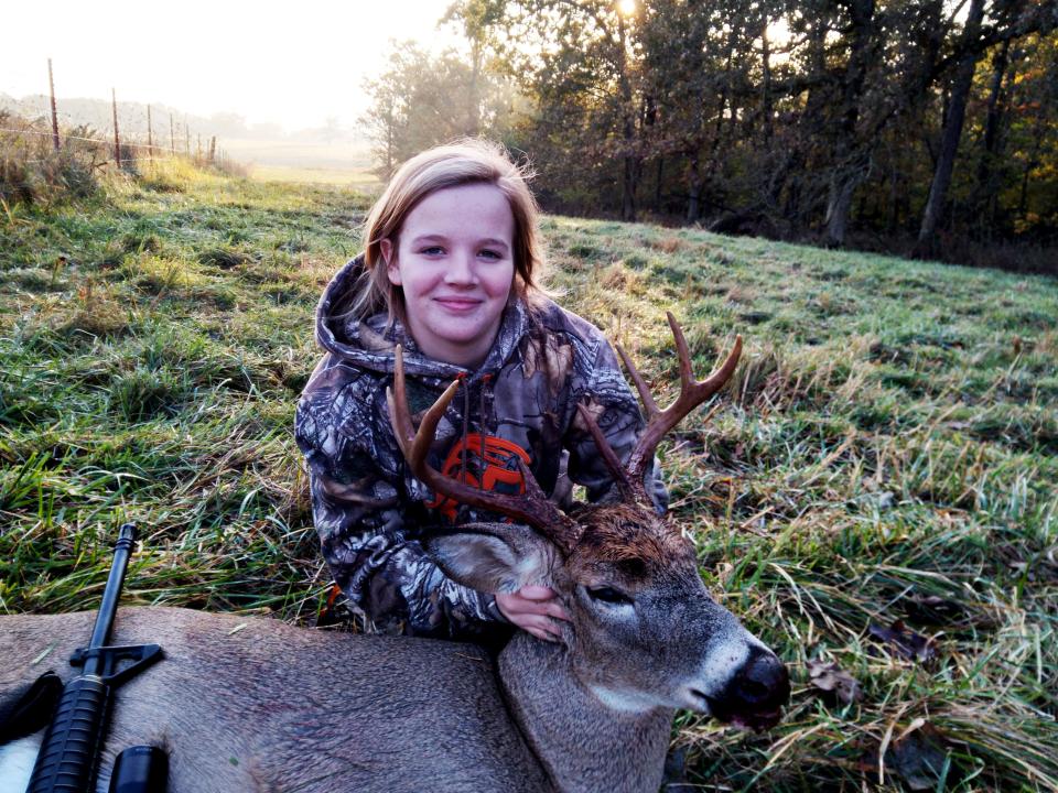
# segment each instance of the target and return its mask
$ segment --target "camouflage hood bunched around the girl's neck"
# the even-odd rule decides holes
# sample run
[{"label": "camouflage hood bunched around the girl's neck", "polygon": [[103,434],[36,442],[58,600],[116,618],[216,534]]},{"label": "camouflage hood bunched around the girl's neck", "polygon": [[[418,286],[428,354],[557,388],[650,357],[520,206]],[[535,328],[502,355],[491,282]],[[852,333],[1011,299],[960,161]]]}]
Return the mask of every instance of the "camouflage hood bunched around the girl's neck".
[{"label": "camouflage hood bunched around the girl's neck", "polygon": [[397,345],[404,348],[404,371],[408,374],[438,381],[456,377],[476,378],[498,371],[514,352],[527,329],[528,312],[514,295],[504,309],[499,333],[485,361],[471,371],[454,363],[445,363],[420,351],[411,334],[400,319],[376,314],[366,319],[336,313],[336,306],[356,290],[364,275],[364,254],[347,262],[331,279],[316,306],[316,344],[331,355],[361,369],[391,373]]}]

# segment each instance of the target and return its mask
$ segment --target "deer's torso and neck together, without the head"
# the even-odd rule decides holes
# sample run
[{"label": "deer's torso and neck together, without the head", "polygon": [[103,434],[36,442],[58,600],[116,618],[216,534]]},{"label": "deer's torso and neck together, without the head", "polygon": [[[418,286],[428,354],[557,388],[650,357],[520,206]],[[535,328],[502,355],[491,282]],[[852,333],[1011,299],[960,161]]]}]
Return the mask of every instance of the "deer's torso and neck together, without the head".
[{"label": "deer's torso and neck together, without the head", "polygon": [[[0,618],[0,696],[43,669],[73,676],[65,659],[93,619]],[[652,793],[661,783],[673,709],[607,706],[565,648],[528,634],[497,664],[473,644],[121,609],[114,643],[140,642],[160,643],[165,659],[118,692],[100,792],[116,754],[136,743],[169,751],[171,793]]]}]

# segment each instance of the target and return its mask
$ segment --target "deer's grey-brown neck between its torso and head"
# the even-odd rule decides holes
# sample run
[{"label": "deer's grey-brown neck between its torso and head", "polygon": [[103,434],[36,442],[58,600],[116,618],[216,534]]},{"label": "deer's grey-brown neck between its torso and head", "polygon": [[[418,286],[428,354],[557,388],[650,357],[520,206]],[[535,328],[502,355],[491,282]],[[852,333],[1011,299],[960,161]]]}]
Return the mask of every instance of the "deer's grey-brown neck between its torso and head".
[{"label": "deer's grey-brown neck between its torso and head", "polygon": [[661,785],[674,711],[604,705],[566,648],[519,631],[499,677],[526,742],[559,791],[649,791]]}]

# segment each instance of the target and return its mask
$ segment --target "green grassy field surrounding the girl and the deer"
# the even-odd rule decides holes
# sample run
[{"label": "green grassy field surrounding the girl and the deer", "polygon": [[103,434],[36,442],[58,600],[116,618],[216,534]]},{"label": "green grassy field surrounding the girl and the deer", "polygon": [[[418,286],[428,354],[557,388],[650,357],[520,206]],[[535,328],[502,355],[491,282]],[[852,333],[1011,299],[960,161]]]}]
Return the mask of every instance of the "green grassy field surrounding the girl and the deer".
[{"label": "green grassy field surrounding the girl and the deer", "polygon": [[[0,214],[0,609],[94,608],[134,520],[127,602],[313,622],[328,580],[291,425],[366,208],[170,165]],[[662,391],[666,309],[701,370],[746,338],[661,452],[703,575],[794,696],[765,735],[681,715],[693,789],[1058,790],[1058,284],[618,222],[546,235],[560,301]]]}]

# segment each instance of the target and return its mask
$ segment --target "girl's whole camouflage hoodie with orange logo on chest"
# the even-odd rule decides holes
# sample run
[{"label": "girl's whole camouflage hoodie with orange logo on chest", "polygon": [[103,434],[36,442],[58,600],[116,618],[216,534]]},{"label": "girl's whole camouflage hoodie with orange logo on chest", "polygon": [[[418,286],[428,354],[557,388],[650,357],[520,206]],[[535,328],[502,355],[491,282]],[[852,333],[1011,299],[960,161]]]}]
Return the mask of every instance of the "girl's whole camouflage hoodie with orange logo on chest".
[{"label": "girl's whole camouflage hoodie with orange logo on chest", "polygon": [[[474,371],[424,356],[399,321],[334,314],[360,261],[338,271],[320,301],[316,341],[326,354],[298,403],[295,434],[309,464],[323,554],[349,605],[376,627],[446,638],[487,634],[490,624],[506,621],[494,596],[446,578],[418,537],[440,525],[496,517],[435,499],[409,471],[386,404],[396,345],[406,350],[413,415],[462,380],[429,461],[449,474],[465,467],[469,481],[488,489],[518,491],[517,455],[553,500],[569,501],[570,480],[585,486],[590,500],[600,499],[612,479],[576,404],[596,416],[622,458],[641,427],[638,405],[602,333],[551,302],[530,311],[512,300]],[[663,509],[663,488],[656,489]]]}]

